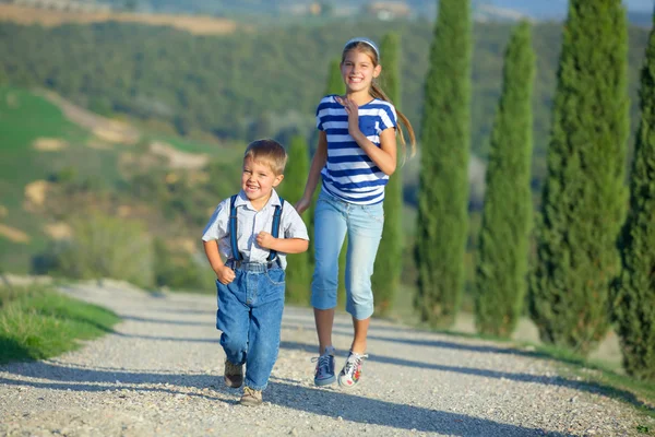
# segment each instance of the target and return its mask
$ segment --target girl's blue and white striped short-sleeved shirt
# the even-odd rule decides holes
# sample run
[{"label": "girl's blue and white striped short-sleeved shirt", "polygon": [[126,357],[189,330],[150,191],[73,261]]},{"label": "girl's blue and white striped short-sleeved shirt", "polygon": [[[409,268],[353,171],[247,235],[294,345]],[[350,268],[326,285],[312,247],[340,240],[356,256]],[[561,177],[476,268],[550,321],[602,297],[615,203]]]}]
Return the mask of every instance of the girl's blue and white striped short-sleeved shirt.
[{"label": "girl's blue and white striped short-sleeved shirt", "polygon": [[[348,133],[348,114],[335,101],[321,99],[317,108],[317,127],[327,137],[327,162],[321,170],[323,189],[350,203],[373,204],[384,200],[385,175]],[[374,98],[359,107],[359,129],[380,146],[380,133],[396,127],[396,111],[389,102]]]}]

